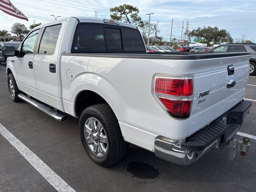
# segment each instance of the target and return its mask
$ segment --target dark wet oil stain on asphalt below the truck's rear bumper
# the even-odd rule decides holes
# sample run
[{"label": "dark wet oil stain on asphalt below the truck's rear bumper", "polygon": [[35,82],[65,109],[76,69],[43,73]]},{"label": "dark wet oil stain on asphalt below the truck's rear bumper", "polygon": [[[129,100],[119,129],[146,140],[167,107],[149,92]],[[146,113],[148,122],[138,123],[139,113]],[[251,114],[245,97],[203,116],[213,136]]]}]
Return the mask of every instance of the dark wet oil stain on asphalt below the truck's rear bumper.
[{"label": "dark wet oil stain on asphalt below the truck's rear bumper", "polygon": [[129,162],[127,171],[132,174],[132,177],[140,179],[155,179],[159,175],[158,169],[144,162]]}]

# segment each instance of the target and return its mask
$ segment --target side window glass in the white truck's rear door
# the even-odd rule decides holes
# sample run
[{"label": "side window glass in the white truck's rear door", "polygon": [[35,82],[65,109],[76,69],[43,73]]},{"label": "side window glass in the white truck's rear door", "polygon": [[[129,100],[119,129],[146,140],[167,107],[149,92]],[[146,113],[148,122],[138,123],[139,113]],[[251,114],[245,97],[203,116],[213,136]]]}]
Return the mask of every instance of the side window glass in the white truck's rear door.
[{"label": "side window glass in the white truck's rear door", "polygon": [[54,54],[57,40],[60,34],[60,25],[46,27],[39,46],[40,54]]}]

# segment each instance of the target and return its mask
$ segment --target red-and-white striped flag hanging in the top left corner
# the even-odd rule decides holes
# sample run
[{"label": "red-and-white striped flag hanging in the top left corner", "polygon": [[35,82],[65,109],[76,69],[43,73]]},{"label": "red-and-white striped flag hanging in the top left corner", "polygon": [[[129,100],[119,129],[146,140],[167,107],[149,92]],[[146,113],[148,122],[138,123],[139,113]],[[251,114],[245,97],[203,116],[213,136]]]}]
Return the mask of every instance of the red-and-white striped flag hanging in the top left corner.
[{"label": "red-and-white striped flag hanging in the top left corner", "polygon": [[25,19],[28,21],[28,18],[24,16],[24,14],[20,10],[14,7],[10,0],[0,0],[0,10],[14,17]]}]

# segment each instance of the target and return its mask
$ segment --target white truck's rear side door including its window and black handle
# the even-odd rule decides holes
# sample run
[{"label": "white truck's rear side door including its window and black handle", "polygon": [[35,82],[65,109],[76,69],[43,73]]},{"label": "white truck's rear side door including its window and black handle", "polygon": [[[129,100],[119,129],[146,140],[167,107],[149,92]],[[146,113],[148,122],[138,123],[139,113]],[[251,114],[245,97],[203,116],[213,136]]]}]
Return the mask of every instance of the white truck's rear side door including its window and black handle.
[{"label": "white truck's rear side door including its window and black handle", "polygon": [[[45,26],[34,56],[34,72],[38,99],[61,110],[58,81],[58,50],[64,26],[62,22]],[[60,77],[59,77],[60,78]]]}]

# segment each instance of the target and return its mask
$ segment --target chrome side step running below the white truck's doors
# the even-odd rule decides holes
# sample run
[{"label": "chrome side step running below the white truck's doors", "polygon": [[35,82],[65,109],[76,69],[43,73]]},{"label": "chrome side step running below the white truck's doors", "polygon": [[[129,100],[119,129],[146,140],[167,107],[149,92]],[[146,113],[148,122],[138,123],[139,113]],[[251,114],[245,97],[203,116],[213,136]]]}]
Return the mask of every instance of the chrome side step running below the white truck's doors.
[{"label": "chrome side step running below the white truck's doors", "polygon": [[59,114],[57,111],[49,108],[48,106],[38,103],[37,101],[33,100],[32,98],[29,98],[25,96],[24,94],[18,94],[18,97],[21,98],[22,100],[26,101],[27,103],[31,104],[32,106],[38,108],[42,112],[48,114],[52,118],[58,120],[58,121],[64,121],[67,119],[66,116]]}]

